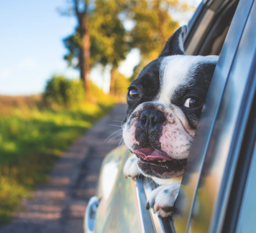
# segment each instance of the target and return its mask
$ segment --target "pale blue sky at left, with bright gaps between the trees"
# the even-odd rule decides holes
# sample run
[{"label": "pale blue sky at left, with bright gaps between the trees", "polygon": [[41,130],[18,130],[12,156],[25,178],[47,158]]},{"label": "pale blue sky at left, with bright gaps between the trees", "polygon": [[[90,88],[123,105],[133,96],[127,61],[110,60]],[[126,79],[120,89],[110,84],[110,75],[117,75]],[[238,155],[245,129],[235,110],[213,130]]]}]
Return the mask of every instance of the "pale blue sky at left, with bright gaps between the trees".
[{"label": "pale blue sky at left, with bright gaps between the trees", "polygon": [[[200,0],[193,0],[200,1]],[[78,70],[63,60],[67,52],[63,38],[73,33],[76,18],[60,16],[65,0],[1,1],[0,3],[0,95],[32,95],[45,89],[54,74],[78,78]],[[140,51],[133,49],[119,71],[129,77],[140,62]],[[106,67],[91,71],[91,79],[105,92],[110,75]]]}]

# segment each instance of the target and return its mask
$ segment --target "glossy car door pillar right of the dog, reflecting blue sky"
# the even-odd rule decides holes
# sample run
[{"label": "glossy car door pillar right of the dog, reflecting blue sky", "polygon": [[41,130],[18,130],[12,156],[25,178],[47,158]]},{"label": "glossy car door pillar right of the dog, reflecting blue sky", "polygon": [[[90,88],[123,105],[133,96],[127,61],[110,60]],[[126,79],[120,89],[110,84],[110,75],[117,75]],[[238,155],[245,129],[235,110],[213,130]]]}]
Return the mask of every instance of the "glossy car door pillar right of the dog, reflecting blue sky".
[{"label": "glossy car door pillar right of the dog, reflecting blue sky", "polygon": [[240,151],[255,109],[255,13],[254,1],[239,1],[188,156],[173,214],[177,232],[236,228],[240,204],[231,194],[244,190],[244,177],[236,174],[245,163]]}]

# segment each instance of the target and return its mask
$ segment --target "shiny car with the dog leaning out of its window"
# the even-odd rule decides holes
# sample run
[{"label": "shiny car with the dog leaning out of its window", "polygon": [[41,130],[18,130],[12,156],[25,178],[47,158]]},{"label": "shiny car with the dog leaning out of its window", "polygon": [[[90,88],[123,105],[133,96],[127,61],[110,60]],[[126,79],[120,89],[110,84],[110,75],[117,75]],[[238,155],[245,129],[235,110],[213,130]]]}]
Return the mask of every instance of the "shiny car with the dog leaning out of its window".
[{"label": "shiny car with the dog leaning out of its window", "polygon": [[124,179],[130,152],[111,151],[88,204],[85,232],[255,232],[256,1],[203,1],[191,22],[186,54],[219,55],[188,156],[175,210],[145,209],[157,184]]}]

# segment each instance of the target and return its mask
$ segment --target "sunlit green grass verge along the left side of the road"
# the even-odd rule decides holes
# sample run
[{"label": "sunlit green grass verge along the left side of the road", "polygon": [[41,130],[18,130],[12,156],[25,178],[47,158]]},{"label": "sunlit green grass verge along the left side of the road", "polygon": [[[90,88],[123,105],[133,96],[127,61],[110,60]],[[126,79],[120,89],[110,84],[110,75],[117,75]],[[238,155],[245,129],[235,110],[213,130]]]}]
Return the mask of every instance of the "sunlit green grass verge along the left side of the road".
[{"label": "sunlit green grass verge along the left side of the road", "polygon": [[35,184],[71,143],[111,108],[86,105],[81,110],[14,108],[0,113],[0,223],[9,222]]}]

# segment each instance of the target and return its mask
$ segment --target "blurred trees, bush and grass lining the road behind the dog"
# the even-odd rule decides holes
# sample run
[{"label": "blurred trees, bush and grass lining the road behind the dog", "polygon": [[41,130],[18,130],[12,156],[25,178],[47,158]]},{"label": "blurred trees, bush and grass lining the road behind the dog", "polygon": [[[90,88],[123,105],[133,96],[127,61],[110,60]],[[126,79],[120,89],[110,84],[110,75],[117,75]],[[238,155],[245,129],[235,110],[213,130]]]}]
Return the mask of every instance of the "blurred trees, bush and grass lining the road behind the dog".
[{"label": "blurred trees, bush and grass lining the road behind the dog", "polygon": [[[129,82],[157,58],[178,28],[173,13],[193,8],[186,2],[66,1],[60,14],[74,16],[77,24],[63,39],[63,58],[80,71],[80,79],[55,75],[42,95],[0,96],[0,224],[21,208],[21,199],[35,184],[47,181],[47,173],[73,141],[114,103],[126,99]],[[140,51],[140,62],[125,77],[119,67],[132,49]],[[109,72],[109,95],[91,83],[92,68]]]}]

